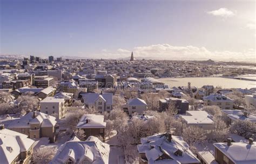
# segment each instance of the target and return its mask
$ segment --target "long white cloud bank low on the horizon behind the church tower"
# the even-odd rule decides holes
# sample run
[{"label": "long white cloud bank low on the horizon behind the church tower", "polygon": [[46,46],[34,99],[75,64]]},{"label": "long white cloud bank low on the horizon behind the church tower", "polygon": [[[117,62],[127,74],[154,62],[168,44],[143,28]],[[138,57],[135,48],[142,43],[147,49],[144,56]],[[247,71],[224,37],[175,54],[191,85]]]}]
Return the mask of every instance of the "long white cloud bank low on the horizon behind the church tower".
[{"label": "long white cloud bank low on the horizon behind the church tower", "polygon": [[[172,46],[170,44],[156,44],[149,46],[137,46],[133,51],[135,58],[145,59],[169,59],[169,60],[225,60],[225,61],[254,61],[255,50],[249,49],[244,52],[232,51],[209,51],[206,47],[197,46]],[[95,54],[96,58],[127,58],[131,51],[118,49],[113,52],[101,52]]]}]

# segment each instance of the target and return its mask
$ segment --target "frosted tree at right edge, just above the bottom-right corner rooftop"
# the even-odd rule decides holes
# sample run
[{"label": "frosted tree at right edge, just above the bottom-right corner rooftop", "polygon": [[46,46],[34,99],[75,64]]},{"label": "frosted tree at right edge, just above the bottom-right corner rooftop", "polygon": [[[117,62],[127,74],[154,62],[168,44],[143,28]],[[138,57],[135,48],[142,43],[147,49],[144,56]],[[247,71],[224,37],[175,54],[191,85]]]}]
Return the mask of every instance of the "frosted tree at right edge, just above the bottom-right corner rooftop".
[{"label": "frosted tree at right edge, just above the bottom-right corner rooftop", "polygon": [[256,139],[256,124],[252,121],[237,120],[231,125],[230,131],[232,133],[244,136],[244,138]]}]

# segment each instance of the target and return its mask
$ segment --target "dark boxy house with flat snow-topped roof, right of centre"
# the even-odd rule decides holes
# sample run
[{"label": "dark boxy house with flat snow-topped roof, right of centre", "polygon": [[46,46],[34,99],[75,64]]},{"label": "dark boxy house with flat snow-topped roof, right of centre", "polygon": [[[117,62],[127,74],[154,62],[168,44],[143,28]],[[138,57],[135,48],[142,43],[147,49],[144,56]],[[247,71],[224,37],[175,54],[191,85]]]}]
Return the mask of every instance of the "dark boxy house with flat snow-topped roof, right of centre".
[{"label": "dark boxy house with flat snow-topped roof, right of centre", "polygon": [[177,108],[178,114],[184,114],[188,111],[189,103],[185,99],[178,98],[165,98],[159,100],[159,109],[160,111],[165,111],[170,104],[173,104]]}]

